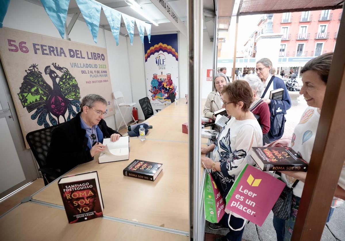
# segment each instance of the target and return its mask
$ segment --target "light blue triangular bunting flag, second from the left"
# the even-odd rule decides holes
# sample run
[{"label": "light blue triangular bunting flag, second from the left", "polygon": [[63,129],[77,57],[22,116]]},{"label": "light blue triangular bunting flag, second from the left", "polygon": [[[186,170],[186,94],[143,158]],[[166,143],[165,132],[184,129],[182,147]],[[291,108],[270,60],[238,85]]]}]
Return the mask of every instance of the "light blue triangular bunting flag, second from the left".
[{"label": "light blue triangular bunting flag, second from the left", "polygon": [[43,8],[46,10],[49,18],[58,29],[61,38],[64,38],[69,0],[41,0],[41,3],[43,5]]}]

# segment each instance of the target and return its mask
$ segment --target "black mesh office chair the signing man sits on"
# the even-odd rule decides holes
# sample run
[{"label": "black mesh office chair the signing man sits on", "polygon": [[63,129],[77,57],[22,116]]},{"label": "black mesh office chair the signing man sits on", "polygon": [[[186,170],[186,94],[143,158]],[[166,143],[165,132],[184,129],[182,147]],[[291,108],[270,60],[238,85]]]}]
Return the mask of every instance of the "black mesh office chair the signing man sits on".
[{"label": "black mesh office chair the signing man sits on", "polygon": [[42,172],[45,186],[61,176],[60,169],[47,167],[46,160],[48,148],[51,142],[51,134],[53,129],[59,125],[34,130],[26,135],[26,140],[31,148],[32,154],[36,158],[38,166],[40,167],[38,170]]}]

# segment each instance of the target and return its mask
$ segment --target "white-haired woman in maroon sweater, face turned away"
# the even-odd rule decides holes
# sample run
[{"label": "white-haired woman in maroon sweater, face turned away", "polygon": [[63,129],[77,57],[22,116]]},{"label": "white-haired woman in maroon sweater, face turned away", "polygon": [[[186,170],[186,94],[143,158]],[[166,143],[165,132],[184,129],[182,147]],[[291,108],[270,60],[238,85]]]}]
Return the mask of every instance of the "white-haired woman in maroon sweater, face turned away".
[{"label": "white-haired woman in maroon sweater, face turned away", "polygon": [[269,132],[269,128],[271,126],[269,107],[268,104],[260,97],[262,91],[264,90],[264,84],[255,74],[248,74],[244,77],[244,80],[249,83],[249,86],[253,92],[253,103],[250,105],[249,110],[254,114],[261,126],[264,145],[268,144],[270,141],[267,133]]}]

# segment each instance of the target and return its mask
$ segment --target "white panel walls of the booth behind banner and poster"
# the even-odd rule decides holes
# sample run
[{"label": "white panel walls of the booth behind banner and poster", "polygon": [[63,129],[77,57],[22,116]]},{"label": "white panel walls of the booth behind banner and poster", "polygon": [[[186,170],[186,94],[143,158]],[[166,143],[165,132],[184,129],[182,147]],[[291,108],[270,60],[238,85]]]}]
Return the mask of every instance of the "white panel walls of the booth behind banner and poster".
[{"label": "white panel walls of the booth behind banner and poster", "polygon": [[[103,14],[103,12],[101,12]],[[67,25],[71,17],[67,17]],[[58,30],[52,23],[43,7],[23,0],[11,0],[10,5],[3,21],[3,27],[18,29],[31,33],[37,33],[50,37],[61,39]],[[154,26],[152,27],[152,29]],[[104,34],[103,34],[104,33]],[[167,32],[172,33],[172,32]],[[162,33],[152,33],[164,34]],[[104,37],[105,36],[105,37]],[[188,93],[187,72],[188,72],[188,53],[187,37],[181,33],[179,36],[179,93],[184,98]],[[103,31],[99,28],[97,44],[93,42],[91,33],[85,22],[77,20],[69,34],[71,41],[107,48],[108,64],[112,91],[121,91],[124,94],[126,102],[136,102],[139,119],[144,119],[144,114],[139,105],[139,99],[146,96],[145,71],[144,71],[144,45],[139,36],[134,36],[133,45],[130,45],[129,38],[119,36],[119,45],[116,46],[112,33],[108,30]],[[66,36],[65,36],[66,39]],[[128,43],[126,43],[126,41]],[[204,32],[203,38],[203,61],[202,61],[202,79],[201,79],[201,97],[206,98],[212,91],[212,82],[206,81],[206,70],[212,69],[213,65],[213,43],[210,42],[207,32]],[[124,107],[121,107],[124,108]],[[116,126],[121,122],[121,116],[115,105]],[[121,109],[122,113],[124,109]],[[126,122],[131,121],[130,112],[125,116]],[[114,116],[105,118],[107,125],[115,128]],[[123,122],[121,125],[124,125]]]}]

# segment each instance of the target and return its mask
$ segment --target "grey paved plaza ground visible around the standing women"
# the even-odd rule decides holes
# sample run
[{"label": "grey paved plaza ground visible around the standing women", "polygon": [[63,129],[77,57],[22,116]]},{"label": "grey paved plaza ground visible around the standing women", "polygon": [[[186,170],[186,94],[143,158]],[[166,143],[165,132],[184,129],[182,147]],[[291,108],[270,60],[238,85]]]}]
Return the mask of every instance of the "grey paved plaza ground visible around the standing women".
[{"label": "grey paved plaza ground visible around the standing women", "polygon": [[[284,129],[284,136],[291,137],[295,126],[298,124],[300,117],[302,116],[304,110],[307,108],[307,103],[305,102],[303,96],[298,98],[298,104],[292,106],[285,115],[286,123]],[[248,241],[276,241],[276,233],[273,228],[273,213],[270,212],[266,221],[259,227],[254,223],[250,222],[245,226],[245,231],[243,234],[243,239]],[[331,221],[329,221],[322,234],[321,241],[345,241],[345,204],[334,210]],[[207,222],[207,221],[206,221]],[[207,224],[205,227],[206,233],[222,234],[227,233],[226,230],[214,231],[208,228]]]}]

